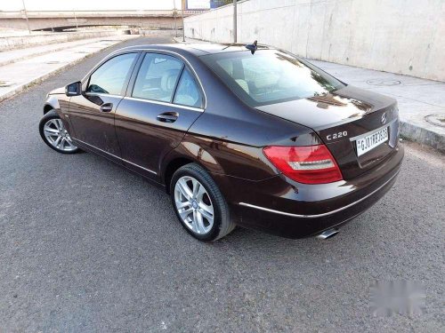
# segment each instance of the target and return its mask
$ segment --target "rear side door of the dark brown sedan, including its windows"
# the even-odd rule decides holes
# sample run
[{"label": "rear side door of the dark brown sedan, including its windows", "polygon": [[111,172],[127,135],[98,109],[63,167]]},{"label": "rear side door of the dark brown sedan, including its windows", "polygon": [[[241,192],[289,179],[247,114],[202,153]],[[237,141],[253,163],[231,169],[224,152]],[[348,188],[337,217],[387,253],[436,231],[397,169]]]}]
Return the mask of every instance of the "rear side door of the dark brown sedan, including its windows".
[{"label": "rear side door of the dark brown sedan, including its windows", "polygon": [[160,162],[204,111],[204,93],[183,59],[146,52],[116,113],[125,165],[159,180]]}]

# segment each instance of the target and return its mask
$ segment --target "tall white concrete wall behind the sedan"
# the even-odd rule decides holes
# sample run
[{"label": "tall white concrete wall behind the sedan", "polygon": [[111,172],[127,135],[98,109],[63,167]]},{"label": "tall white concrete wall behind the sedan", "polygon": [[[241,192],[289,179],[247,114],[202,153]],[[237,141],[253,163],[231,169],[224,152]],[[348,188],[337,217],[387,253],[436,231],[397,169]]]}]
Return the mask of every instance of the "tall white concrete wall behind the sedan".
[{"label": "tall white concrete wall behind the sedan", "polygon": [[[230,43],[233,7],[185,19],[188,37]],[[445,0],[245,0],[238,41],[309,59],[445,81]]]}]

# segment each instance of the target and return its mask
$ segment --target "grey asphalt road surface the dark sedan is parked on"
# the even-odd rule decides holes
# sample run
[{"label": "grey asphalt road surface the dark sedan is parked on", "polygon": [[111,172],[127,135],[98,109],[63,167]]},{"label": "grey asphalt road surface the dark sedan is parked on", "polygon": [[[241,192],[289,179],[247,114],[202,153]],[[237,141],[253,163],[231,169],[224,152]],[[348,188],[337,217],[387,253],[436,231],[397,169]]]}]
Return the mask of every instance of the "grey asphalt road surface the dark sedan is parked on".
[{"label": "grey asphalt road surface the dark sedan is parked on", "polygon": [[[329,241],[238,229],[203,244],[161,190],[39,138],[46,92],[107,52],[0,104],[1,332],[443,331],[442,155],[407,145],[390,193]],[[425,313],[373,317],[376,280],[424,283]]]}]

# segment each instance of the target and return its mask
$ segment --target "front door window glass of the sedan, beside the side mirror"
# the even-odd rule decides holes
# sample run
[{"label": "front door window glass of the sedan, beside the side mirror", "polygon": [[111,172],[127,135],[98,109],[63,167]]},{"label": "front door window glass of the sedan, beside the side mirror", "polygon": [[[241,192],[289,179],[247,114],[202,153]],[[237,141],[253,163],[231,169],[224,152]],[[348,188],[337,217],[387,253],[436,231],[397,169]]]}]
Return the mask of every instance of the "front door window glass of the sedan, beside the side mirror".
[{"label": "front door window glass of the sedan, beside the side mirror", "polygon": [[90,76],[86,92],[123,95],[124,84],[137,53],[118,55],[97,68]]}]

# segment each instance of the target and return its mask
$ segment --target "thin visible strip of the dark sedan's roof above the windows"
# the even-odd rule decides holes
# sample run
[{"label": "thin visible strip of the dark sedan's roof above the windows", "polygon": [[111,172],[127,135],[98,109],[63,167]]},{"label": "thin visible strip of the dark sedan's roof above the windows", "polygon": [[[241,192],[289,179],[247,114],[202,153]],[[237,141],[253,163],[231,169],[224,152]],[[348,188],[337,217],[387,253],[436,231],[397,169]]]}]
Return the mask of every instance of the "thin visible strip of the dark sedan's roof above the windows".
[{"label": "thin visible strip of the dark sedan's roof above the windows", "polygon": [[[267,45],[257,45],[258,50],[270,50],[271,47]],[[246,48],[246,44],[219,44],[219,43],[193,43],[193,44],[142,44],[128,46],[123,49],[117,50],[117,52],[131,51],[131,50],[165,50],[176,52],[189,52],[197,57],[225,52],[250,52]]]}]

